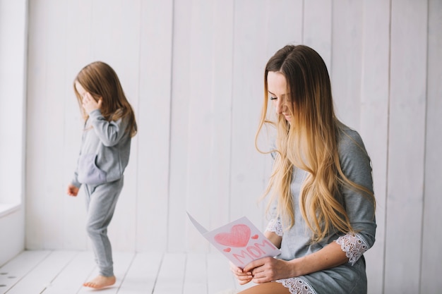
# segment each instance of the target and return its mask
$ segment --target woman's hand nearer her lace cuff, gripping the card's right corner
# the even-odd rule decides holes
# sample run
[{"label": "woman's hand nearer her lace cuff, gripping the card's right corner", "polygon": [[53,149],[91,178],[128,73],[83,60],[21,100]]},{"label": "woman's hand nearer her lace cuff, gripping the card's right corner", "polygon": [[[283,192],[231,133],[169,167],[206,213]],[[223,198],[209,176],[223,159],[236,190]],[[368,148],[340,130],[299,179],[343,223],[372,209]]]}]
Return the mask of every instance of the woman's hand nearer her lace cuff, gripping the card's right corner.
[{"label": "woman's hand nearer her lace cuff, gripping the card's right corner", "polygon": [[291,278],[293,266],[289,262],[273,257],[257,259],[246,265],[244,272],[251,272],[253,283],[267,283],[280,278]]}]

